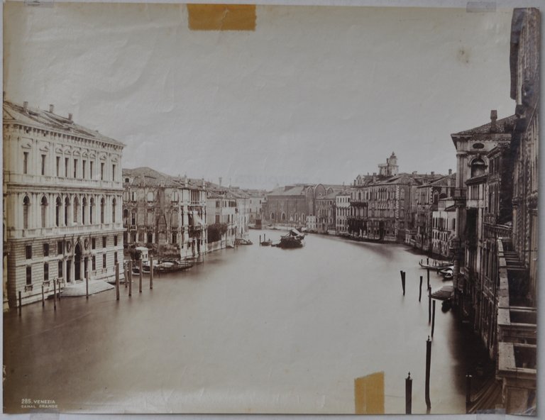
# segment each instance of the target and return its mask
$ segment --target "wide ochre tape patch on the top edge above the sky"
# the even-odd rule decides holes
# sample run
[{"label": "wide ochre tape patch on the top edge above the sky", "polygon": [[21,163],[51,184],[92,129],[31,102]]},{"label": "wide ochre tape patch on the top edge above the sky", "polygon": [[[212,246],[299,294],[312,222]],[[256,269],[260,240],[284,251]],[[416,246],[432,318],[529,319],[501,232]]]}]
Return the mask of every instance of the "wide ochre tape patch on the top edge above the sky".
[{"label": "wide ochre tape patch on the top edge above the sky", "polygon": [[187,4],[192,31],[255,31],[255,4]]}]

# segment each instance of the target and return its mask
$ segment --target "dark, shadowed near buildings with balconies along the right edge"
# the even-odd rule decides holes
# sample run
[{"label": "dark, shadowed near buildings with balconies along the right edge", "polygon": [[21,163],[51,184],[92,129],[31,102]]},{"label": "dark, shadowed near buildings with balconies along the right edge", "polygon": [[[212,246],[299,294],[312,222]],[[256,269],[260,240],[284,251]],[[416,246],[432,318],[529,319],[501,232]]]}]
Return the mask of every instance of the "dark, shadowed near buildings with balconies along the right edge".
[{"label": "dark, shadowed near buildings with balconies along the right edge", "polygon": [[514,9],[514,114],[497,119],[492,111],[490,122],[451,136],[458,162],[454,300],[495,360],[511,414],[536,408],[539,28],[537,9]]}]

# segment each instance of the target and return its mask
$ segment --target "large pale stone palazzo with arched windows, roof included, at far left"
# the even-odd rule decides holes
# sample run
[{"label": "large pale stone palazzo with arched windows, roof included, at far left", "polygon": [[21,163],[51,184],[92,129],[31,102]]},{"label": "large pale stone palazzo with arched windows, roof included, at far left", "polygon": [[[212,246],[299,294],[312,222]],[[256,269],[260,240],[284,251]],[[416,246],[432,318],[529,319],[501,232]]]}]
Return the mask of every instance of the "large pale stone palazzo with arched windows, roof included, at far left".
[{"label": "large pale stone palazzo with arched windows, roof included, at far left", "polygon": [[[123,143],[60,116],[4,100],[4,300],[42,288],[113,280],[123,260]],[[123,275],[121,270],[121,277]]]}]

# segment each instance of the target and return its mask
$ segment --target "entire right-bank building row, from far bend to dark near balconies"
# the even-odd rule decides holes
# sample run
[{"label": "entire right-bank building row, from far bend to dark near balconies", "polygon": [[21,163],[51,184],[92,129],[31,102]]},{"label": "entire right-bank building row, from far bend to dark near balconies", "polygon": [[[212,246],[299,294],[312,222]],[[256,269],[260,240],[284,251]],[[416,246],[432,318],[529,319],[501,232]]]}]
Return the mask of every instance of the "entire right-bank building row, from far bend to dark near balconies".
[{"label": "entire right-bank building row, from far bend to dark near balconies", "polygon": [[514,9],[506,63],[514,114],[492,110],[483,125],[451,134],[456,173],[400,173],[392,153],[349,186],[280,187],[263,207],[268,224],[452,260],[454,307],[495,361],[491,387],[507,413],[536,407],[539,26],[537,9]]}]

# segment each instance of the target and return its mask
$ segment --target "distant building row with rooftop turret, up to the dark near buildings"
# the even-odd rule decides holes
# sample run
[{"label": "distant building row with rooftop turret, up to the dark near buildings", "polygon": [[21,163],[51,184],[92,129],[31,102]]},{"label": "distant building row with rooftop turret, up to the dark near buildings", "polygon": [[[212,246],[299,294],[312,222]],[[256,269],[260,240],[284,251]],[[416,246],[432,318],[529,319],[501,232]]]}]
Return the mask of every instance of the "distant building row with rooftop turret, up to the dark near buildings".
[{"label": "distant building row with rooftop turret, up to the dark near buildings", "polygon": [[350,185],[297,184],[267,194],[265,223],[360,240],[408,243],[448,257],[456,227],[456,174],[400,173],[392,153]]}]

